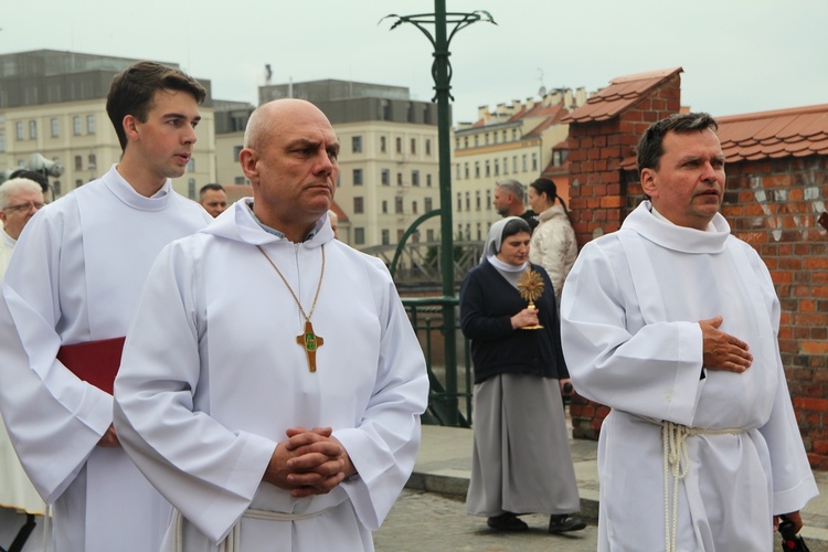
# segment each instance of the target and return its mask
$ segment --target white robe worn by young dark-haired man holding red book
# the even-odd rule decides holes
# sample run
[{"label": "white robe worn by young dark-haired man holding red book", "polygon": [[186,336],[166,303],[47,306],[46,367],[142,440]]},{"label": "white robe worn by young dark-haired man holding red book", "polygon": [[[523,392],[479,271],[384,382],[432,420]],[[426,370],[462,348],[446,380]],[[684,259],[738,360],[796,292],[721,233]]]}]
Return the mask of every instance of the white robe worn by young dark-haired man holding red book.
[{"label": "white robe worn by young dark-haired man holding red book", "polygon": [[20,460],[54,503],[57,552],[146,552],[170,507],[121,448],[96,446],[113,397],[57,359],[61,346],[123,337],[158,252],[212,220],[171,181],[145,198],[113,167],[39,211],[2,285],[0,408]]}]

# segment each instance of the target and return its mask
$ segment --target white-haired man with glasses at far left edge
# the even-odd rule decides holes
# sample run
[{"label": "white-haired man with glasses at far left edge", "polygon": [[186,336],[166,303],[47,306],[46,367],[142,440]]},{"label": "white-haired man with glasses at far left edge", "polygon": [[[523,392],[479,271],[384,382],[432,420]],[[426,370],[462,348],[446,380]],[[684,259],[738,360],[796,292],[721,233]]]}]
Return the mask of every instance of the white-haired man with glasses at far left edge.
[{"label": "white-haired man with glasses at far left edge", "polygon": [[13,178],[0,184],[0,221],[3,222],[0,248],[0,282],[6,276],[11,252],[18,243],[23,226],[43,206],[40,184],[28,178]]}]

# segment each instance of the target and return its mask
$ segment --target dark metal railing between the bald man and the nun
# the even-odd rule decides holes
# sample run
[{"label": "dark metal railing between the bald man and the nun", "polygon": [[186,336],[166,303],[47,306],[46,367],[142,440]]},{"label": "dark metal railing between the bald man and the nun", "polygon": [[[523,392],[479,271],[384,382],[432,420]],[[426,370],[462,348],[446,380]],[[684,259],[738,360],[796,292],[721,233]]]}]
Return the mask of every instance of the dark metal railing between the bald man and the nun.
[{"label": "dark metal railing between the bald man and the nun", "polygon": [[[423,415],[424,424],[470,427],[471,425],[471,390],[474,375],[471,373],[471,355],[469,341],[463,337],[457,323],[446,328],[443,312],[446,307],[457,309],[456,297],[418,297],[403,298],[403,305],[408,319],[417,335],[425,354],[428,370],[428,410]],[[457,316],[453,317],[453,321]],[[445,337],[447,332],[456,336],[457,342],[463,343],[459,352],[461,359],[446,362],[447,348]]]}]

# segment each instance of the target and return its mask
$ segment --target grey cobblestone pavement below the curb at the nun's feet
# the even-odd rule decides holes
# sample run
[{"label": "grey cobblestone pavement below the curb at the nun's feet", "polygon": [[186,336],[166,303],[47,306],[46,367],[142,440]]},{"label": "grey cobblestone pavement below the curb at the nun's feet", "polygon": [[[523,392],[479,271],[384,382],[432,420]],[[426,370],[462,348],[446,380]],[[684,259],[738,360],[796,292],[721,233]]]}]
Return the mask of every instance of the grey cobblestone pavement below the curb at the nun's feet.
[{"label": "grey cobblestone pavement below the curb at the nun's feet", "polygon": [[385,523],[374,533],[378,552],[595,552],[597,529],[549,534],[545,516],[521,516],[529,531],[503,533],[486,527],[485,518],[466,514],[464,502],[434,492],[405,489]]}]

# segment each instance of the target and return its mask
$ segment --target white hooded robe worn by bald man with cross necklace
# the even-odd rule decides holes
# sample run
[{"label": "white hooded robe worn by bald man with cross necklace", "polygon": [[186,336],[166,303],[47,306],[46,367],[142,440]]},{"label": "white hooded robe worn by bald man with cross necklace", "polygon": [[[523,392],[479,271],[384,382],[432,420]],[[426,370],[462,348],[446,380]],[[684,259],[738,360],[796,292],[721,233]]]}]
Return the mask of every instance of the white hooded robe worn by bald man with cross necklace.
[{"label": "white hooded robe worn by bald man with cross necklace", "polygon": [[[373,550],[420,447],[422,349],[385,266],[335,240],[327,214],[294,244],[247,201],[159,255],[115,382],[116,428],[183,517],[163,550],[216,550],[236,522],[243,551]],[[316,372],[288,285],[323,340]],[[298,499],[263,482],[297,426],[332,427],[359,475]]]}]

